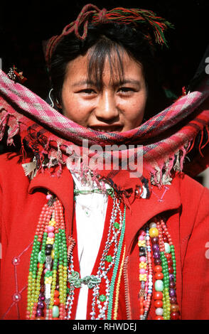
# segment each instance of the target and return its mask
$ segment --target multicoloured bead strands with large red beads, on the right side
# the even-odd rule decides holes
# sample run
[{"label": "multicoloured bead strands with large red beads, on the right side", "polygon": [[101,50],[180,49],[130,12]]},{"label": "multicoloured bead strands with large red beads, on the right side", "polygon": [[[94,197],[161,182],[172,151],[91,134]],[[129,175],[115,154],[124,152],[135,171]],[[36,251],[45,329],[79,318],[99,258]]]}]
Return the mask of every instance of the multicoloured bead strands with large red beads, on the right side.
[{"label": "multicoloured bead strands with large red beads, on the right side", "polygon": [[164,220],[156,220],[141,229],[138,246],[140,319],[147,318],[154,287],[155,320],[178,320],[176,257]]}]

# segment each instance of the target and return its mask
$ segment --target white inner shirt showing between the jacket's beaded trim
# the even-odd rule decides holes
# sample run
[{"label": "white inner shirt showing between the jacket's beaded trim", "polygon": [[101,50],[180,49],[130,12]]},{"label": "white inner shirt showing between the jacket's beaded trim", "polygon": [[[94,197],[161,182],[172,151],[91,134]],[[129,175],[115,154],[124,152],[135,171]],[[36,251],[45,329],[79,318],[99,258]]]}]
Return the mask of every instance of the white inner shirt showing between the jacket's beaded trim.
[{"label": "white inner shirt showing between the jacket's beaded trim", "polygon": [[[72,173],[78,190],[92,190],[98,188],[96,183],[83,185],[79,176]],[[106,184],[106,188],[110,188]],[[107,194],[90,193],[79,194],[75,199],[75,217],[77,228],[77,253],[80,264],[80,278],[90,276],[100,249],[104,221],[107,211]],[[81,285],[77,302],[75,320],[86,320],[88,287]]]}]

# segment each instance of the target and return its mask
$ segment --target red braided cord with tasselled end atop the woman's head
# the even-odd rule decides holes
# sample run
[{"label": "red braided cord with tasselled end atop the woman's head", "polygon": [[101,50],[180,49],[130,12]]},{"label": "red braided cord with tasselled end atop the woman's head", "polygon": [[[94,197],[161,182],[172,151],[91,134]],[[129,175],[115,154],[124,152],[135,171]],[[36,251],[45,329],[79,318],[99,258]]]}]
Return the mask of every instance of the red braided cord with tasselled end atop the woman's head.
[{"label": "red braided cord with tasselled end atop the woman's head", "polygon": [[[149,32],[153,31],[155,36],[155,42],[158,44],[166,44],[166,38],[164,36],[164,31],[166,28],[173,28],[171,23],[166,21],[160,16],[156,16],[153,11],[148,11],[146,9],[124,9],[118,7],[107,11],[107,9],[98,9],[97,6],[92,4],[87,4],[82,8],[77,19],[65,26],[63,32],[59,36],[53,36],[48,41],[48,45],[45,52],[45,60],[50,67],[50,59],[55,50],[56,45],[60,40],[68,35],[69,33],[75,32],[75,36],[81,41],[85,40],[87,37],[87,28],[90,23],[109,23],[117,22],[121,24],[134,24],[135,26],[141,25],[141,28],[145,28],[144,36],[150,40]],[[79,28],[83,26],[83,33],[80,35]]]}]

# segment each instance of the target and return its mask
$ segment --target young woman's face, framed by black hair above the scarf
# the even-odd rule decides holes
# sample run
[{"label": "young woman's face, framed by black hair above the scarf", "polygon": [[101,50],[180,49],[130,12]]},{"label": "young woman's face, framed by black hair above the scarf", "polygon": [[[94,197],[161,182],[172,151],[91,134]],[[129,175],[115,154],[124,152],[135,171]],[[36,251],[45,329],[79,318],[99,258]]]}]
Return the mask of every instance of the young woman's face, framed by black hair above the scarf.
[{"label": "young woman's face, framed by black hair above the scarf", "polygon": [[[62,90],[63,114],[73,122],[96,131],[124,132],[142,122],[146,106],[146,83],[139,63],[124,53],[124,76],[104,63],[102,87],[88,82],[88,54],[68,64]],[[116,66],[117,67],[117,66]]]}]

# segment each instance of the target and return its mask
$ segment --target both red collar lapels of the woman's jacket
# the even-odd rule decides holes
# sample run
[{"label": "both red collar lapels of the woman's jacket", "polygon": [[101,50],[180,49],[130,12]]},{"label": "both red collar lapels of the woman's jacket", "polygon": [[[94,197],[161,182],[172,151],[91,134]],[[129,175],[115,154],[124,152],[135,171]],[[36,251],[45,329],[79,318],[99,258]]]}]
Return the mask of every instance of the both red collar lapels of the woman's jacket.
[{"label": "both red collar lapels of the woman's jacket", "polygon": [[[148,199],[139,198],[134,200],[131,209],[127,208],[126,217],[126,244],[129,251],[137,232],[152,217],[159,215],[161,212],[175,210],[181,207],[181,196],[179,192],[180,178],[176,176],[171,185],[162,186],[161,188],[153,187],[151,196]],[[33,193],[38,188],[45,188],[54,193],[65,208],[66,232],[72,228],[73,222],[73,177],[64,167],[60,177],[52,175],[50,171],[38,173],[28,188],[29,193]]]}]

